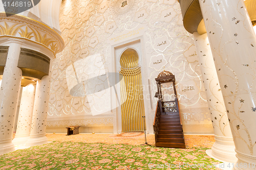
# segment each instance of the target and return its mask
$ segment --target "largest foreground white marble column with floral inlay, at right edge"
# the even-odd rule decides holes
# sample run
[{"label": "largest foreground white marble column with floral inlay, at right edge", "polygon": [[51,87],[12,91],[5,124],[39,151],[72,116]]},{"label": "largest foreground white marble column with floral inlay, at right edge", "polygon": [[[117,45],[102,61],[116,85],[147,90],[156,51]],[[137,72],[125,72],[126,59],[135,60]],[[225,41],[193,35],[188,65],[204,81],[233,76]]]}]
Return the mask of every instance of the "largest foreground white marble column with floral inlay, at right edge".
[{"label": "largest foreground white marble column with floral inlay, at right edge", "polygon": [[236,147],[235,169],[256,169],[256,36],[242,0],[199,0]]}]

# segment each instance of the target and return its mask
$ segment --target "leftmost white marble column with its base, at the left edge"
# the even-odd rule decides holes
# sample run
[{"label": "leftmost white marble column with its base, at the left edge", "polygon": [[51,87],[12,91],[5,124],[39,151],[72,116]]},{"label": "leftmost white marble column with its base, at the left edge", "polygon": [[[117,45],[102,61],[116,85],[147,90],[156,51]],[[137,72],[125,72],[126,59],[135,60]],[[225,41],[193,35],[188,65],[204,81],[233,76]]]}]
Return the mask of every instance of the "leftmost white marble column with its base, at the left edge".
[{"label": "leftmost white marble column with its base, at the left edge", "polygon": [[22,70],[17,67],[20,44],[10,43],[0,90],[0,154],[15,150],[12,143]]}]

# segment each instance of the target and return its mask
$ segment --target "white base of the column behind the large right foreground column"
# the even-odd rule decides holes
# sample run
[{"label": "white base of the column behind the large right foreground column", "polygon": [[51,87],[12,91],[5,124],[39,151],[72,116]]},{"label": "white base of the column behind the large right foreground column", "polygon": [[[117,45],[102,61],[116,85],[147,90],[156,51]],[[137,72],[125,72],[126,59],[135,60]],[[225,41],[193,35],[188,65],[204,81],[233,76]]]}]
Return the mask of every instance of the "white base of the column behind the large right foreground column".
[{"label": "white base of the column behind the large right foreground column", "polygon": [[[232,137],[222,137],[215,135],[215,143],[211,148],[211,155],[220,161],[236,163],[238,158],[234,151],[234,142]],[[206,154],[208,155],[206,152]],[[209,154],[210,156],[210,154]]]}]

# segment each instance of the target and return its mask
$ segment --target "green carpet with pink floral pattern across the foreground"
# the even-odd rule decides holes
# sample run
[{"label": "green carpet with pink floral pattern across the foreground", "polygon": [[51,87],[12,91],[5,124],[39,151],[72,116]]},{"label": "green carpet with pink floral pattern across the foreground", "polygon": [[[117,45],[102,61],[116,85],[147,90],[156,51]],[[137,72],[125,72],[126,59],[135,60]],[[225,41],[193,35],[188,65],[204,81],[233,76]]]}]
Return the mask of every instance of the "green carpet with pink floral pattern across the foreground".
[{"label": "green carpet with pink floral pattern across the foreground", "polygon": [[219,169],[207,149],[52,142],[0,155],[0,169]]}]

